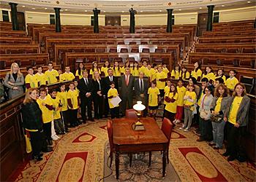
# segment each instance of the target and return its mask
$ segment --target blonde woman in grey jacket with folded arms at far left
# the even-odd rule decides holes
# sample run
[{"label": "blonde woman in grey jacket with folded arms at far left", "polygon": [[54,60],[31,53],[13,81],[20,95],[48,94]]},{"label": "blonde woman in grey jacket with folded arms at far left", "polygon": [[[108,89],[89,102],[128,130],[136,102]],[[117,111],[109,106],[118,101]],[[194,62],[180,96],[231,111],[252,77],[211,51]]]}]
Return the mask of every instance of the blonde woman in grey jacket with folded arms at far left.
[{"label": "blonde woman in grey jacket with folded arms at far left", "polygon": [[18,63],[12,63],[10,72],[7,73],[4,79],[4,86],[9,88],[8,98],[17,98],[24,93],[24,76],[20,73]]}]

